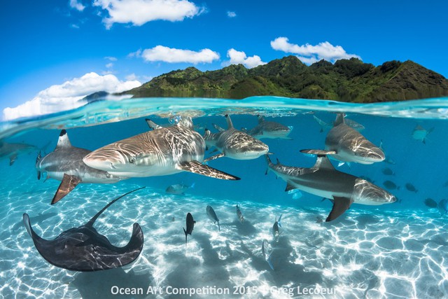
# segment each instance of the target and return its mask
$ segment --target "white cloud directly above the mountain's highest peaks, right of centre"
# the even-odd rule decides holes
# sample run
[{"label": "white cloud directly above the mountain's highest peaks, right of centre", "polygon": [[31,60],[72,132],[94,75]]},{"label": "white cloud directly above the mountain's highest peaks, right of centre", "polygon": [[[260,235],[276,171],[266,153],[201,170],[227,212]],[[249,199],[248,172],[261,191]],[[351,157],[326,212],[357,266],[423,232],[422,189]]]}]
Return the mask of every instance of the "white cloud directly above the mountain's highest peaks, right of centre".
[{"label": "white cloud directly above the mountain's highest peaks, right of centre", "polygon": [[335,62],[336,60],[349,59],[351,57],[360,59],[358,55],[348,54],[341,46],[333,46],[331,43],[328,43],[328,41],[319,43],[316,46],[312,46],[309,43],[299,46],[289,43],[288,38],[286,37],[277,37],[274,41],[271,41],[271,47],[274,50],[297,54],[297,57],[307,64],[319,60]]}]

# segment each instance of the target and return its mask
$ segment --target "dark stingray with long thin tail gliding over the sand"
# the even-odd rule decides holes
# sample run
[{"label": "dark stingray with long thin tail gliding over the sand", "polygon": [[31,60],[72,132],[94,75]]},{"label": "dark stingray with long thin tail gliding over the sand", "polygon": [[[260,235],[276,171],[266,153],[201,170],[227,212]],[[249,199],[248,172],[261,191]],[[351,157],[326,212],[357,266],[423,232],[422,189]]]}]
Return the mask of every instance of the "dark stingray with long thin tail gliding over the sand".
[{"label": "dark stingray with long thin tail gliding over the sand", "polygon": [[[145,188],[145,187],[142,187]],[[62,232],[52,240],[39,237],[31,227],[28,214],[23,214],[23,222],[34,242],[38,253],[48,263],[66,270],[91,272],[122,267],[136,260],[143,249],[144,237],[139,223],[134,223],[132,237],[126,246],[113,246],[109,239],[99,234],[93,224],[97,218],[120,198],[133,193],[132,190],[109,202],[85,225]]]}]

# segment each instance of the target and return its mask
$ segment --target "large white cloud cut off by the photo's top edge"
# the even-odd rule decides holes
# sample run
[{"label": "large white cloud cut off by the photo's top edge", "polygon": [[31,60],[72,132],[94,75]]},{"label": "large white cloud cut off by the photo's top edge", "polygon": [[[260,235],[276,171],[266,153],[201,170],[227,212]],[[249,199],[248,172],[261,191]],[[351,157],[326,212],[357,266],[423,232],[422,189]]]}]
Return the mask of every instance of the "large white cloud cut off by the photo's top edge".
[{"label": "large white cloud cut off by the photo's top edge", "polygon": [[93,5],[109,13],[109,18],[103,18],[107,29],[114,23],[141,26],[154,20],[182,21],[204,12],[188,0],[94,0]]}]

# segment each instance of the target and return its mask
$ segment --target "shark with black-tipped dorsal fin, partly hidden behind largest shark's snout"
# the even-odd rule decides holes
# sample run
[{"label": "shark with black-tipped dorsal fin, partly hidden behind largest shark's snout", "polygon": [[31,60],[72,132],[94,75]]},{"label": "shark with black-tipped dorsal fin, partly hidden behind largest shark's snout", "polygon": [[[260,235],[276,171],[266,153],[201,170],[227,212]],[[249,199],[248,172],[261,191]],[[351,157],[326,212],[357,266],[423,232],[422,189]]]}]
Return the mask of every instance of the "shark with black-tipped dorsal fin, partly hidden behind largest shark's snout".
[{"label": "shark with black-tipped dorsal fin, partly hidden behind largest shark's snout", "polygon": [[88,153],[90,151],[85,148],[72,146],[66,130],[62,130],[55,150],[43,158],[40,153],[38,154],[37,179],[41,179],[41,172],[46,172],[47,179],[62,181],[51,204],[55,204],[69,194],[78,183],[116,183],[127,179],[85,165],[83,158]]}]

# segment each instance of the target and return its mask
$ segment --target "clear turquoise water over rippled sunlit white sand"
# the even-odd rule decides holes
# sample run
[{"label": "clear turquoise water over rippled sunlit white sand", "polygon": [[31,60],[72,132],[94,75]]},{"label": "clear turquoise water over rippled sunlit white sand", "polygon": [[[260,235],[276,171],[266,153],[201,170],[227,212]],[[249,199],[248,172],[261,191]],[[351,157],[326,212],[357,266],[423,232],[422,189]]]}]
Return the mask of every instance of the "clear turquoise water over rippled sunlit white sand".
[{"label": "clear turquoise water over rippled sunlit white sand", "polygon": [[[328,290],[315,298],[446,298],[448,296],[448,221],[423,201],[447,198],[448,99],[387,104],[341,104],[279,97],[223,99],[127,99],[94,102],[74,111],[18,122],[1,123],[0,138],[32,144],[50,153],[61,129],[71,144],[94,150],[125,139],[148,127],[145,118],[165,125],[174,115],[193,116],[201,134],[213,123],[226,127],[226,113],[235,127],[250,129],[258,114],[266,120],[292,126],[292,140],[262,139],[272,158],[282,164],[311,167],[315,158],[302,148],[323,148],[328,128],[314,116],[331,123],[334,112],[362,124],[362,134],[382,143],[389,162],[342,165],[339,171],[366,176],[398,198],[380,206],[353,204],[330,223],[321,222],[331,210],[328,200],[284,192],[286,183],[265,175],[264,158],[221,158],[209,165],[234,174],[240,181],[221,181],[181,172],[171,176],[134,178],[114,184],[80,184],[51,206],[59,181],[36,178],[36,153],[18,155],[12,166],[0,160],[0,296],[3,298],[156,298],[156,295],[113,295],[119,288],[162,288],[158,298],[180,288],[229,289],[239,298],[290,298],[304,290]],[[414,139],[416,125],[428,130],[425,143]],[[214,154],[214,153],[213,153]],[[213,155],[207,152],[206,157]],[[393,161],[393,164],[390,163]],[[394,174],[384,174],[385,169]],[[387,172],[386,172],[387,173]],[[397,186],[387,189],[384,182]],[[185,184],[185,195],[165,192]],[[417,192],[408,190],[412,184]],[[133,188],[138,193],[113,204],[95,228],[113,244],[123,246],[138,222],[144,231],[141,256],[126,267],[92,273],[63,270],[48,264],[36,251],[22,225],[28,213],[36,232],[45,239],[86,223],[113,198]],[[299,197],[299,198],[297,198]],[[221,233],[207,218],[210,204],[221,220]],[[246,223],[237,220],[239,204]],[[184,244],[186,214],[197,221]],[[279,242],[272,237],[276,216],[283,214]],[[272,270],[262,256],[262,240],[272,246]],[[171,287],[171,288],[169,288]],[[236,292],[232,295],[232,293]],[[187,298],[184,295],[183,298]],[[228,298],[193,295],[192,298]]]}]

